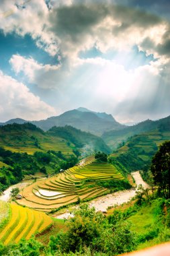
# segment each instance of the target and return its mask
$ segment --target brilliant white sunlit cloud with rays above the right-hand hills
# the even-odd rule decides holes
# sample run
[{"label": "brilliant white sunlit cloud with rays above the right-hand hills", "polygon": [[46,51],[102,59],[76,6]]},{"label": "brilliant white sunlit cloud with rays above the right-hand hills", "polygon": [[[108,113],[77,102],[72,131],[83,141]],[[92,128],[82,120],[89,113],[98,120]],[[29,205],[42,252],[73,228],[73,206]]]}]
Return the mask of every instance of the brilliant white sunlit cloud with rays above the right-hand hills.
[{"label": "brilliant white sunlit cloud with rays above the right-hand hills", "polygon": [[65,90],[70,96],[67,105],[104,110],[121,123],[159,119],[169,115],[169,73],[161,61],[126,70],[114,61],[86,59],[74,84]]}]

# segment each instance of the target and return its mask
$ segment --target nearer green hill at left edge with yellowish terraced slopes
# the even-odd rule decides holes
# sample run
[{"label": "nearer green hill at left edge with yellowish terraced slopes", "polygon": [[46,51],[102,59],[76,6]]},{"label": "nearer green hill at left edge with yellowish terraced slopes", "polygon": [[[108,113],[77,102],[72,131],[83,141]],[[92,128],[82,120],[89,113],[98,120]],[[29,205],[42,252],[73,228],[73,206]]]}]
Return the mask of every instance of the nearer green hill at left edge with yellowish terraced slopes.
[{"label": "nearer green hill at left edge with yellowish terraced slopes", "polygon": [[63,154],[73,154],[72,146],[74,147],[68,146],[65,139],[48,135],[32,123],[13,123],[0,127],[0,147],[12,152],[34,154],[36,151],[54,150],[62,151]]}]

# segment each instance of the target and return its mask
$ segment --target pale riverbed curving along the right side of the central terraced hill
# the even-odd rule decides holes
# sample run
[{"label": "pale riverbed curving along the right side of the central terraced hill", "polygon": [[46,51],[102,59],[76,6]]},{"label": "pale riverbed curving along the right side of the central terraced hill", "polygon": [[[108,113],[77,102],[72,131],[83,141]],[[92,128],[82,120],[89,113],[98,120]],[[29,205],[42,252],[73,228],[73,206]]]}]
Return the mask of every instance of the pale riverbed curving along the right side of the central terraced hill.
[{"label": "pale riverbed curving along the right side of the central terraced hill", "polygon": [[[139,171],[132,172],[132,176],[134,177],[135,183],[138,185],[142,185],[144,189],[148,187],[148,185],[142,180]],[[132,199],[135,195],[135,191],[137,187],[134,189],[128,189],[124,191],[118,191],[116,193],[112,193],[109,195],[104,195],[103,197],[98,197],[89,203],[90,207],[95,207],[96,211],[106,212],[109,206],[114,206],[116,204],[120,205],[122,203],[126,203]],[[59,216],[55,216],[56,218],[64,219],[71,216],[70,212],[66,212],[65,214],[61,214]]]}]

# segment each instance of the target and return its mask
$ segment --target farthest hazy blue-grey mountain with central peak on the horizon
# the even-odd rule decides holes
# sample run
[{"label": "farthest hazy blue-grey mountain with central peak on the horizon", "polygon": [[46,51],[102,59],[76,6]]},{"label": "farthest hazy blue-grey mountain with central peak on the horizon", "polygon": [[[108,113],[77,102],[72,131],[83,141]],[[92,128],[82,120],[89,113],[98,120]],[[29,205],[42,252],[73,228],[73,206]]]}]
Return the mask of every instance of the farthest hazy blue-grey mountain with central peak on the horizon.
[{"label": "farthest hazy blue-grey mountain with central peak on the horizon", "polygon": [[123,129],[125,125],[118,123],[112,115],[106,113],[97,113],[87,108],[78,108],[77,110],[69,110],[57,117],[50,117],[41,121],[26,121],[24,119],[11,119],[6,123],[0,123],[0,125],[7,125],[8,123],[33,123],[37,127],[40,127],[44,131],[53,126],[65,127],[65,125],[71,125],[82,131],[87,131],[95,135],[101,135],[105,131]]}]

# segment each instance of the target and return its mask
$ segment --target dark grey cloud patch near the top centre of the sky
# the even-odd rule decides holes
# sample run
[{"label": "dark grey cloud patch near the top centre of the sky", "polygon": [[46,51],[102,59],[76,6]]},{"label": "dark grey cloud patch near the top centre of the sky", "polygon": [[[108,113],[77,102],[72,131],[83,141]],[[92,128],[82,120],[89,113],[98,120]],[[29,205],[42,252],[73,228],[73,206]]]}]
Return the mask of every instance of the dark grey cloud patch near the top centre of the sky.
[{"label": "dark grey cloud patch near the top centre of the sky", "polygon": [[52,31],[58,36],[66,36],[74,42],[79,36],[90,32],[91,28],[107,15],[105,7],[98,5],[62,6],[50,16]]}]

